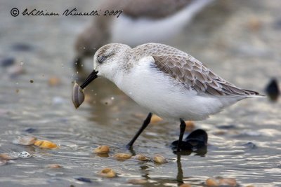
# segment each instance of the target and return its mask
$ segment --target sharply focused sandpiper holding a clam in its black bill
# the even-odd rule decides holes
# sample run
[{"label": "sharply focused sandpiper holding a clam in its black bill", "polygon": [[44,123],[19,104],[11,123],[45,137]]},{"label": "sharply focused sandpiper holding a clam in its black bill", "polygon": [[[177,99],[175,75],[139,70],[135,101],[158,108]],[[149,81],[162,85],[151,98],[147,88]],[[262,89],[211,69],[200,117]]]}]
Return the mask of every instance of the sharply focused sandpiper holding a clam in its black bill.
[{"label": "sharply focused sandpiper holding a clam in its black bill", "polygon": [[185,120],[204,120],[241,99],[262,97],[258,92],[229,83],[195,57],[160,43],[136,48],[121,43],[101,47],[93,57],[93,71],[81,89],[98,76],[115,83],[150,111],[128,147],[148,126],[152,113],[181,121],[177,148],[180,151]]}]

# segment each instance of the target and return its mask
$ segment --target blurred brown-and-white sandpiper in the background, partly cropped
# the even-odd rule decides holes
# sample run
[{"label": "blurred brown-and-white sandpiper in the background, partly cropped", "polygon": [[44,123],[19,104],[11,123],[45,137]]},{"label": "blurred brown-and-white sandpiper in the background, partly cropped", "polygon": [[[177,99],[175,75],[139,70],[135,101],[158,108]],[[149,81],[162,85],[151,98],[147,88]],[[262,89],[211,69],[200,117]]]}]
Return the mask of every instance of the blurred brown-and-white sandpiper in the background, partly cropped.
[{"label": "blurred brown-and-white sandpiper in the background, partly cropped", "polygon": [[138,46],[163,42],[181,32],[192,18],[214,0],[104,1],[102,10],[122,10],[119,18],[96,16],[75,42],[77,67],[106,43]]}]

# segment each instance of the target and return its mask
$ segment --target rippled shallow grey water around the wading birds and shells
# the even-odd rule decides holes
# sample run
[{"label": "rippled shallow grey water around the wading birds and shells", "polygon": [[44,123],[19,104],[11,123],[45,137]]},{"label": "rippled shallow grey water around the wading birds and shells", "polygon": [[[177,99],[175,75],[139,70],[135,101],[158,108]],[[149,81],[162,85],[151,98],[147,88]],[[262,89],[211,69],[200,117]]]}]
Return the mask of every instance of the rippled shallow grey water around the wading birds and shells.
[{"label": "rippled shallow grey water around the wading birds and shells", "polygon": [[[74,109],[72,81],[85,77],[92,67],[89,60],[84,63],[85,72],[74,71],[72,46],[79,29],[91,18],[10,15],[11,8],[36,2],[1,1],[0,6],[0,60],[13,57],[15,65],[25,71],[11,76],[9,69],[14,66],[0,68],[0,153],[32,154],[32,158],[0,166],[0,186],[133,186],[129,179],[147,179],[142,186],[183,182],[204,186],[207,178],[215,176],[233,177],[240,186],[281,186],[280,100],[245,99],[196,122],[196,128],[209,135],[205,155],[175,155],[170,144],[178,138],[179,124],[164,121],[150,125],[133,151],[127,151],[124,145],[148,111],[102,78],[87,88],[86,102]],[[90,2],[42,1],[38,7],[84,10]],[[188,51],[228,81],[263,92],[271,77],[281,80],[280,6],[280,1],[217,1],[167,43]],[[28,47],[16,48],[20,44]],[[60,84],[49,85],[52,77],[59,78]],[[13,143],[30,134],[60,148]],[[111,148],[108,157],[92,153],[102,144]],[[149,157],[161,154],[169,162],[159,165],[112,158],[120,152]],[[48,169],[49,164],[63,168]],[[114,169],[118,177],[100,177],[98,172],[105,167]],[[91,179],[91,183],[77,180],[79,177]]]}]

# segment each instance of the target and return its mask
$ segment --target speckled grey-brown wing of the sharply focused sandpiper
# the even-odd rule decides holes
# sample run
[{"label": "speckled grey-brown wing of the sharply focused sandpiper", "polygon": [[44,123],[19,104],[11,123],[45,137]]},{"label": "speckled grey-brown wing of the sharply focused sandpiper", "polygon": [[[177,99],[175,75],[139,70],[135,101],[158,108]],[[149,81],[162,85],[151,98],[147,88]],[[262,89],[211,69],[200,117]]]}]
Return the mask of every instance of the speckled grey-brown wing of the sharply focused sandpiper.
[{"label": "speckled grey-brown wing of the sharply focused sandpiper", "polygon": [[259,95],[258,92],[237,88],[181,50],[159,43],[148,43],[146,48],[148,46],[150,50],[147,53],[154,58],[157,69],[196,90],[198,94],[242,97]]}]

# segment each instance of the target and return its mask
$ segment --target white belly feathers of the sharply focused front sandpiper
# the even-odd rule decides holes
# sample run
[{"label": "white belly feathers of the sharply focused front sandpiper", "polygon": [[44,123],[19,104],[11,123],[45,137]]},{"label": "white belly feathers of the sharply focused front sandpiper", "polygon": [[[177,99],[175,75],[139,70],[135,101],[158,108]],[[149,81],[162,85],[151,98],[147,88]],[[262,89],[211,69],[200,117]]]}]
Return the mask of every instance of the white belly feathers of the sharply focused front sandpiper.
[{"label": "white belly feathers of the sharply focused front sandpiper", "polygon": [[216,97],[197,95],[194,90],[175,85],[172,78],[145,65],[123,75],[116,84],[139,105],[170,120],[202,120],[223,107]]}]

